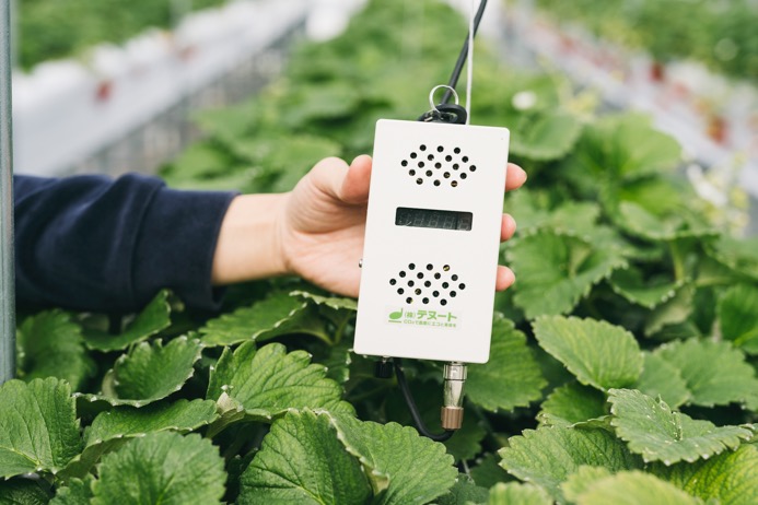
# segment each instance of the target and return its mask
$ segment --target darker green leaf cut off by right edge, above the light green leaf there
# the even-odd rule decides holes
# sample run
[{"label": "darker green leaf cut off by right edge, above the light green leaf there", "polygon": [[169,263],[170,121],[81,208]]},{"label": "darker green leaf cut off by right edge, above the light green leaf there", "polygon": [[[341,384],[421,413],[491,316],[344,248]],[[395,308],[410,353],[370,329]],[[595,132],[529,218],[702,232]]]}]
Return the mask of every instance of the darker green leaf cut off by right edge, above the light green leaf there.
[{"label": "darker green leaf cut off by right edge, above the light green leaf there", "polygon": [[731,287],[719,301],[721,336],[748,354],[758,354],[758,289]]}]

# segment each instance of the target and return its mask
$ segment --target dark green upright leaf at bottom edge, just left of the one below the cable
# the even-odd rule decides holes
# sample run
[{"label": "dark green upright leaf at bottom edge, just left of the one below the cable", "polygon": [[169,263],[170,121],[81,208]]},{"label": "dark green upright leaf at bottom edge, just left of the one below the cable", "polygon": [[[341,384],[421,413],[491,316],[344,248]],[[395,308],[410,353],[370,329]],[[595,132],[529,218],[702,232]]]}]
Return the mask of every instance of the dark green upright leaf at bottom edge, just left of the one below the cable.
[{"label": "dark green upright leaf at bottom edge, just left of the one below the cable", "polygon": [[372,494],[329,416],[308,410],[290,411],[271,425],[240,485],[240,505],[368,503]]}]

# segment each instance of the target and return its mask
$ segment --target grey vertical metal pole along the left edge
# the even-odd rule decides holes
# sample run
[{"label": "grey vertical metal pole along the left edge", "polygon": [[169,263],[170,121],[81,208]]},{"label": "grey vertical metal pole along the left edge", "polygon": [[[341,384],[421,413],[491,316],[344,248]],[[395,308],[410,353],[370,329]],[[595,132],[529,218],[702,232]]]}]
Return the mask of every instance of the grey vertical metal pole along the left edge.
[{"label": "grey vertical metal pole along the left edge", "polygon": [[11,0],[0,0],[0,384],[15,375]]}]

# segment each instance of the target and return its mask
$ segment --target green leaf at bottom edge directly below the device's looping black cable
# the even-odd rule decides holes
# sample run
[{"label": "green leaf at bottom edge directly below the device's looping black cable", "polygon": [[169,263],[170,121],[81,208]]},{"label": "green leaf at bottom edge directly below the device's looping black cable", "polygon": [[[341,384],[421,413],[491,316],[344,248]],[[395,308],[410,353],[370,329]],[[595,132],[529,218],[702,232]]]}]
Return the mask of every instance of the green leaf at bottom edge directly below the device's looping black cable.
[{"label": "green leaf at bottom edge directly below the device's looping black cable", "polygon": [[455,483],[458,472],[445,446],[412,427],[347,415],[333,415],[333,423],[347,451],[363,466],[375,495],[372,503],[428,503]]}]

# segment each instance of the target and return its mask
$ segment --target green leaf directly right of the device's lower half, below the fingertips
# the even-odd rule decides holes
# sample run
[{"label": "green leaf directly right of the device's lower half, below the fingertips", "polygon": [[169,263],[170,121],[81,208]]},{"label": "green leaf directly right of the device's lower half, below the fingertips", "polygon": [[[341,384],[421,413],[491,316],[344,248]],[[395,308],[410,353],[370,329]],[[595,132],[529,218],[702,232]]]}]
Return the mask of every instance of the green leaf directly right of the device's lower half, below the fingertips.
[{"label": "green leaf directly right of the device's lower half, below the fingertips", "polygon": [[508,258],[516,275],[528,279],[514,287],[513,301],[529,319],[570,312],[594,284],[627,265],[616,248],[548,230],[518,239]]}]

